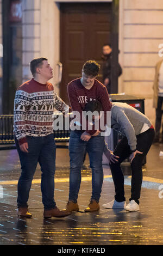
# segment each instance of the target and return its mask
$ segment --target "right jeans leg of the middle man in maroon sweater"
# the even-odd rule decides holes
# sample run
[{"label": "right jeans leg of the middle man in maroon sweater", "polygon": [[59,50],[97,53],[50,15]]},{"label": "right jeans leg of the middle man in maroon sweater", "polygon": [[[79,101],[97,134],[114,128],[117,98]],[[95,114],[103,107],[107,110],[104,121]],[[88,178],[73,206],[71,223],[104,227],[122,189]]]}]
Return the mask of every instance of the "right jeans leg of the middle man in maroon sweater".
[{"label": "right jeans leg of the middle man in maroon sweater", "polygon": [[86,145],[87,152],[90,158],[90,167],[92,169],[92,197],[96,202],[99,202],[103,185],[103,167],[102,156],[104,151],[104,137],[91,137]]}]

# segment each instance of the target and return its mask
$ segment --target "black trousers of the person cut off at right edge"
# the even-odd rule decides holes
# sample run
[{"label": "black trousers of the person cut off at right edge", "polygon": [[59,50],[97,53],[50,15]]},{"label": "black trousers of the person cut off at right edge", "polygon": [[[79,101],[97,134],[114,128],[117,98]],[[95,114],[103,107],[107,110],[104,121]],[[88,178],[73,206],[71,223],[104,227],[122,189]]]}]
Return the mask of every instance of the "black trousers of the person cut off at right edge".
[{"label": "black trousers of the person cut off at right edge", "polygon": [[[163,103],[163,97],[158,97],[158,106],[156,108],[156,120],[155,120],[155,137],[159,139],[160,129],[161,129],[161,118],[163,111],[161,110]],[[162,139],[163,139],[163,127],[162,127]]]}]

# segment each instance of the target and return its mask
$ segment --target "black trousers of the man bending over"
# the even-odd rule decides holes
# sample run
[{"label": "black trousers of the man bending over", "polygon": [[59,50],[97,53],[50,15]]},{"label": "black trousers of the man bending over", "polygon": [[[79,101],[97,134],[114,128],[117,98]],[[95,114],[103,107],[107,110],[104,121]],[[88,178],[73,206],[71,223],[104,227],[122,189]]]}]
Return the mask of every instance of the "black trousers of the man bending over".
[{"label": "black trousers of the man bending over", "polygon": [[[137,135],[137,150],[143,152],[143,154],[136,154],[135,158],[131,162],[131,198],[129,200],[135,200],[139,204],[141,184],[142,184],[142,163],[144,157],[147,155],[151,148],[154,139],[154,129],[148,129],[147,131]],[[121,163],[130,156],[130,147],[126,137],[123,137],[118,142],[114,155],[120,156],[118,162],[111,163],[110,169],[112,179],[115,185],[115,200],[117,202],[123,202],[126,200],[124,197],[124,176],[121,169]]]}]

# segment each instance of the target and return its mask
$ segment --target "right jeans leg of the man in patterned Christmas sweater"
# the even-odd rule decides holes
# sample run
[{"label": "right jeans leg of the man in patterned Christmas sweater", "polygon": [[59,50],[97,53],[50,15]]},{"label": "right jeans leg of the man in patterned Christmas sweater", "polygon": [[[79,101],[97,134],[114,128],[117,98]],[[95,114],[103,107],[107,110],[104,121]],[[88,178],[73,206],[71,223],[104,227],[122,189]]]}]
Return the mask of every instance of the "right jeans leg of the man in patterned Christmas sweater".
[{"label": "right jeans leg of the man in patterned Christmas sweater", "polygon": [[54,135],[43,137],[42,148],[39,156],[41,166],[41,192],[42,203],[45,210],[55,208],[54,202],[54,174],[55,174],[56,145]]}]

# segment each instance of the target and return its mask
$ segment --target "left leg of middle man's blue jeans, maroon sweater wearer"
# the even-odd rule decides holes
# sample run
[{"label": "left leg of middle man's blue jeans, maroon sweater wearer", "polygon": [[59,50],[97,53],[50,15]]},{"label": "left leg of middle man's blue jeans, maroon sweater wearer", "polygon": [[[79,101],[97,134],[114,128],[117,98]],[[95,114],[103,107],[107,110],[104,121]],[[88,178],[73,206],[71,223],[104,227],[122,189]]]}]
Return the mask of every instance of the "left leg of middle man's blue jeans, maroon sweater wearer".
[{"label": "left leg of middle man's blue jeans, maroon sweater wearer", "polygon": [[70,151],[70,191],[69,201],[77,203],[81,183],[81,168],[85,154],[86,143],[80,139],[82,132],[71,131],[69,141]]}]

